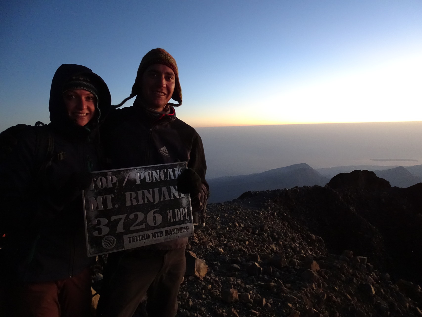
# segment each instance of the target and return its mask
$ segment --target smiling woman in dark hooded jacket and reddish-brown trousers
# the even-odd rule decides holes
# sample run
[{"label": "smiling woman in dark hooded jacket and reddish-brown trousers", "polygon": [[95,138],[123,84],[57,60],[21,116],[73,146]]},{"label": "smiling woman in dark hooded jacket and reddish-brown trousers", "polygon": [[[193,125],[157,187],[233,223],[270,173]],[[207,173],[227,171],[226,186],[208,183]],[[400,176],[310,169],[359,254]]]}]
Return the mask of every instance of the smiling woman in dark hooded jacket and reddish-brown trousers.
[{"label": "smiling woman in dark hooded jacket and reddish-brown trousers", "polygon": [[81,190],[100,169],[98,126],[110,104],[101,77],[84,66],[60,66],[51,83],[51,123],[24,128],[0,164],[5,316],[89,314],[95,258],[87,257]]}]

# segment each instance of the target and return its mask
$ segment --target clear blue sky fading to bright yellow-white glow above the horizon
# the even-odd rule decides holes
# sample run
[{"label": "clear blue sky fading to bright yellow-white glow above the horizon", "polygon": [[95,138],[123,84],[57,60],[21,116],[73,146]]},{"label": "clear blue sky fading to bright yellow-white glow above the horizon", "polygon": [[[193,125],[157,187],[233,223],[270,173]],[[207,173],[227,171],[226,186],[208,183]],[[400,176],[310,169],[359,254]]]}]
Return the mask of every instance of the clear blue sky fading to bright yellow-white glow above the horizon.
[{"label": "clear blue sky fading to bright yellow-white glow above the horizon", "polygon": [[49,121],[62,63],[119,103],[155,47],[176,58],[176,113],[195,127],[422,121],[419,0],[2,1],[0,21],[0,130]]}]

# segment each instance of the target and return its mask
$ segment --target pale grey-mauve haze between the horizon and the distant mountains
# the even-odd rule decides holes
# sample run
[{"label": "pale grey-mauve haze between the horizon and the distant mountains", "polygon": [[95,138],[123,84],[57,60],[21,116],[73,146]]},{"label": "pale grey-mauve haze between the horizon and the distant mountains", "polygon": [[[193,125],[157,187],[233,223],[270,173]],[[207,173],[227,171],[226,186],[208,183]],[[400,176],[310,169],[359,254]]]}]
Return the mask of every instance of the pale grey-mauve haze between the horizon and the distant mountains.
[{"label": "pale grey-mauve haze between the horizon and the distant mountains", "polygon": [[[263,172],[297,163],[417,165],[422,122],[330,123],[197,128],[206,151],[207,178]],[[417,161],[373,161],[399,158]]]}]

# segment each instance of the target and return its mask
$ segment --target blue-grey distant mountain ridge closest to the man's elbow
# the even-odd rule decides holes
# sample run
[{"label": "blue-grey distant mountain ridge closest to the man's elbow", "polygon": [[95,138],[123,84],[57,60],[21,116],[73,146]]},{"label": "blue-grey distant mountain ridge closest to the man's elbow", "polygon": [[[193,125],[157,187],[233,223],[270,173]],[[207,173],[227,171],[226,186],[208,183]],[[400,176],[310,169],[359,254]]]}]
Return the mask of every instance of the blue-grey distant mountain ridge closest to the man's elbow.
[{"label": "blue-grey distant mountain ridge closest to the man's elbow", "polygon": [[295,186],[324,186],[329,179],[308,164],[300,163],[257,174],[224,176],[208,180],[211,196],[208,202],[233,200],[245,191],[284,189]]}]

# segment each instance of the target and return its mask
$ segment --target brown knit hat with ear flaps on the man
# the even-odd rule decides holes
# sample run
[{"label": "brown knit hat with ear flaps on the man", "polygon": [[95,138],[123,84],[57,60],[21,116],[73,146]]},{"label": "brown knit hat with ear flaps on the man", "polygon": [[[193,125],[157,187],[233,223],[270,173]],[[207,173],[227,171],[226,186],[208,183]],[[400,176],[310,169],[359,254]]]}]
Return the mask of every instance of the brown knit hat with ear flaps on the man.
[{"label": "brown knit hat with ear flaps on the man", "polygon": [[151,49],[148,53],[145,54],[144,57],[142,57],[141,64],[139,64],[138,72],[136,73],[136,79],[135,83],[132,86],[132,93],[129,97],[124,99],[120,104],[114,106],[116,108],[122,106],[126,101],[129,99],[141,94],[141,79],[143,72],[151,65],[154,64],[162,64],[167,67],[170,67],[174,74],[176,75],[176,80],[174,83],[174,91],[171,98],[175,101],[177,101],[179,104],[171,104],[172,106],[178,107],[182,104],[182,90],[180,87],[179,82],[179,71],[177,69],[176,60],[171,56],[168,52],[165,51],[165,49]]}]

